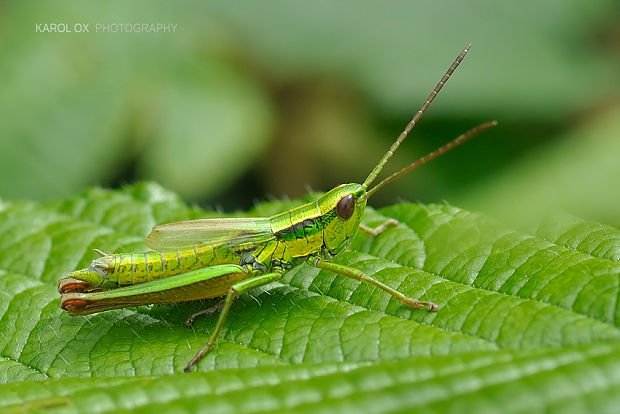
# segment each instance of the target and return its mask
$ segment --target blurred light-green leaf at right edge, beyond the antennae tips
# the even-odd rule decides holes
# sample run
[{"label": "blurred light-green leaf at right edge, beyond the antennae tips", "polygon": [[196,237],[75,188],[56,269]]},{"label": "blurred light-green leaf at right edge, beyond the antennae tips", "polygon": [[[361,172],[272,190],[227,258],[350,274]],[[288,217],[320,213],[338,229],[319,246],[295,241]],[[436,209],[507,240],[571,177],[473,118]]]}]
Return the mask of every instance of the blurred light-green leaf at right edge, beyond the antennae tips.
[{"label": "blurred light-green leaf at right edge, beyond the antennae tips", "polygon": [[527,221],[528,216],[554,214],[560,207],[613,223],[620,219],[619,155],[620,106],[524,157],[510,170],[488,177],[464,193],[461,204],[504,220]]}]

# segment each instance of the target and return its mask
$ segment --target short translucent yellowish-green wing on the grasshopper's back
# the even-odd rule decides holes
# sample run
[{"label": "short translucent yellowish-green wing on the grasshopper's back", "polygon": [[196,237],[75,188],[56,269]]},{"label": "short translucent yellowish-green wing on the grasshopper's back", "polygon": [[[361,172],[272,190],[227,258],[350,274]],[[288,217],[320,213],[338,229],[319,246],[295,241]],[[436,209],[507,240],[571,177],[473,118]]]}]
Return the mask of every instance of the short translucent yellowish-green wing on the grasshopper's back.
[{"label": "short translucent yellowish-green wing on the grasshopper's back", "polygon": [[146,245],[155,251],[183,249],[204,243],[264,242],[274,238],[267,218],[224,218],[179,221],[153,227]]}]

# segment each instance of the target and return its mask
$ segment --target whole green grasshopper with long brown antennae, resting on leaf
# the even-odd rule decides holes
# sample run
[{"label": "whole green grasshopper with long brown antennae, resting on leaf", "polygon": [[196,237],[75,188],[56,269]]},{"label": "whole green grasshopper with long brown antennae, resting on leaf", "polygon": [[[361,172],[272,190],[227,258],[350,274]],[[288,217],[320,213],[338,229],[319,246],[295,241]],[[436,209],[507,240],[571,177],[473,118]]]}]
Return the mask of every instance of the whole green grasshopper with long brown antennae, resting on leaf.
[{"label": "whole green grasshopper with long brown antennae, resting on leaf", "polygon": [[290,268],[308,263],[319,269],[370,283],[412,308],[436,311],[432,302],[410,298],[363,272],[333,263],[357,230],[377,236],[396,220],[377,228],[360,223],[366,202],[377,190],[403,174],[451,150],[496,124],[481,124],[418,159],[369,189],[398,146],[413,129],[471,45],[457,56],[420,110],[409,121],[363,184],[340,185],[315,202],[269,218],[222,218],[155,226],[146,238],[146,253],[105,254],[58,281],[61,307],[69,315],[86,315],[131,306],[186,302],[224,296],[218,305],[197,312],[220,311],[207,343],[188,363],[189,372],[215,344],[230,307],[240,294],[282,278]]}]

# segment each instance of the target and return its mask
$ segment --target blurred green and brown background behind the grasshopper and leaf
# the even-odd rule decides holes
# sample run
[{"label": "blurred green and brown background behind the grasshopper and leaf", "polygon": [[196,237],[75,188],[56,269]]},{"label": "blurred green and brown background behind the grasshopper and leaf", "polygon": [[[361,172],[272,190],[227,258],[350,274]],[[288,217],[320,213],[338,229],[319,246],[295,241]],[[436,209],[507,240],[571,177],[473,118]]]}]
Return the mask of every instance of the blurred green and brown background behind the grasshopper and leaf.
[{"label": "blurred green and brown background behind the grasshopper and leaf", "polygon": [[620,223],[617,0],[2,2],[0,197],[148,179],[233,210],[361,182],[468,42],[387,172],[500,125],[371,204]]}]

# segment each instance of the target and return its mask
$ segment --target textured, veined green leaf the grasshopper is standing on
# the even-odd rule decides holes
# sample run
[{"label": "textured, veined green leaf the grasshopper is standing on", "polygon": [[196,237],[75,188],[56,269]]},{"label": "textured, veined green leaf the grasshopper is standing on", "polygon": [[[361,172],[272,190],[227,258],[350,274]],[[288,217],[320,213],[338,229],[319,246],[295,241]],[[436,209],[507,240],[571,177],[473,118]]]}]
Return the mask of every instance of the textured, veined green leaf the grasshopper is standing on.
[{"label": "textured, veined green leaf the grasshopper is standing on", "polygon": [[[261,203],[267,215],[299,202]],[[556,216],[531,233],[449,205],[367,209],[399,225],[335,258],[436,302],[299,266],[239,298],[217,348],[182,368],[209,303],[70,317],[57,280],[93,248],[142,251],[155,223],[213,216],[161,187],[0,203],[0,411],[596,411],[620,403],[620,231]],[[173,374],[173,375],[165,375]]]}]

